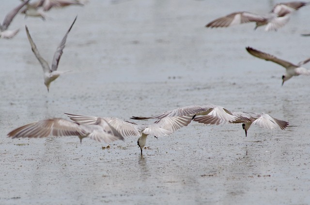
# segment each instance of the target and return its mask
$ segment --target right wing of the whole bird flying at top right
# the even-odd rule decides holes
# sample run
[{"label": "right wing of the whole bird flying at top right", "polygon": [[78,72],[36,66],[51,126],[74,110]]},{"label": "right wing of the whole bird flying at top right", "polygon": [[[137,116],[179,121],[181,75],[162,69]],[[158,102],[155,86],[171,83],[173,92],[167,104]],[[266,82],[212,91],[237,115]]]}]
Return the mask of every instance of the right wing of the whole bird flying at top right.
[{"label": "right wing of the whole bird flying at top right", "polygon": [[286,3],[278,3],[276,4],[271,13],[277,14],[279,17],[291,14],[294,11],[297,11],[301,7],[305,6],[307,2],[304,1],[291,1]]}]

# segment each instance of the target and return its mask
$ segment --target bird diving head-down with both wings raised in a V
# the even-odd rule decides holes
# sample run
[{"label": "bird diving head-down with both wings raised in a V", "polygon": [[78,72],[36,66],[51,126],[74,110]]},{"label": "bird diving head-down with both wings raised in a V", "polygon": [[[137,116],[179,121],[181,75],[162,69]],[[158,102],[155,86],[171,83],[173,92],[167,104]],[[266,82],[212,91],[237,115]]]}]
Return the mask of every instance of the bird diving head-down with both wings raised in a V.
[{"label": "bird diving head-down with both wings raised in a V", "polygon": [[28,39],[29,39],[29,42],[31,44],[31,50],[32,52],[34,53],[35,57],[39,60],[42,68],[43,68],[43,72],[44,72],[44,84],[46,85],[47,87],[47,91],[49,91],[49,85],[52,81],[56,80],[56,78],[58,78],[62,73],[66,73],[66,72],[69,72],[69,71],[57,71],[57,68],[58,68],[58,63],[59,63],[59,60],[62,56],[62,50],[65,46],[65,43],[66,43],[66,39],[67,39],[67,36],[68,36],[68,33],[69,31],[71,30],[73,24],[76,22],[77,20],[77,17],[74,19],[73,23],[71,24],[70,28],[68,29],[68,31],[66,32],[66,34],[64,35],[64,37],[62,38],[62,41],[61,43],[58,45],[55,53],[54,53],[54,57],[53,57],[53,60],[52,60],[52,65],[51,65],[51,68],[49,67],[47,61],[45,59],[43,59],[36,47],[36,45],[34,44],[34,42],[32,41],[31,39],[31,36],[30,36],[30,33],[28,31],[28,28],[27,26],[25,26],[26,28],[26,33],[27,33],[27,36],[28,36]]}]

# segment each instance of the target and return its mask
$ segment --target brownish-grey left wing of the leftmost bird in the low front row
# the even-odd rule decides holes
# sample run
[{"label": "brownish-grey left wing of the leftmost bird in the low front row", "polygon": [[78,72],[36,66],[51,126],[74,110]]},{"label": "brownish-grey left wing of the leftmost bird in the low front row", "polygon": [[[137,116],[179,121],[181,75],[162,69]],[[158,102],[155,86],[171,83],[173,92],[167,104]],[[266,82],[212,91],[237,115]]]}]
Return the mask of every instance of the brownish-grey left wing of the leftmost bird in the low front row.
[{"label": "brownish-grey left wing of the leftmost bird in the low front row", "polygon": [[49,118],[32,122],[16,128],[8,133],[9,137],[41,138],[52,136],[84,136],[87,132],[80,128],[78,123],[62,118]]}]

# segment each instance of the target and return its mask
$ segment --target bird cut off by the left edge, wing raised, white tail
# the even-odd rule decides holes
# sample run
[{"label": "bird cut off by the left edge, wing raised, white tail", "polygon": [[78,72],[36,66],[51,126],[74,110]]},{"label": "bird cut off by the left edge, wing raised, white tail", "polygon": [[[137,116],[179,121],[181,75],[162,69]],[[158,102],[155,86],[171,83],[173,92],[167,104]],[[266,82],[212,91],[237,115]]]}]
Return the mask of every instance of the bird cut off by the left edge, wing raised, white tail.
[{"label": "bird cut off by the left edge, wing raised, white tail", "polygon": [[11,39],[18,33],[19,29],[8,30],[8,27],[10,26],[18,11],[29,1],[30,0],[22,2],[5,16],[2,25],[0,24],[0,38]]}]

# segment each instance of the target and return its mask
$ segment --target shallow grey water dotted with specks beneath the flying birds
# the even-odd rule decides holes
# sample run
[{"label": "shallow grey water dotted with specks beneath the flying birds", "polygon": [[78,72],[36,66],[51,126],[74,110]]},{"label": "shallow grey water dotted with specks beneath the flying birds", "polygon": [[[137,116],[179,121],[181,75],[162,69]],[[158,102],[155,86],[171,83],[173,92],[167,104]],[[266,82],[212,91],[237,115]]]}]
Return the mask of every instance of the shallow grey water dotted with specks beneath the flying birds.
[{"label": "shallow grey water dotted with specks beneath the flying birds", "polygon": [[[207,29],[234,11],[264,13],[268,0],[91,0],[16,16],[17,36],[0,41],[0,204],[309,204],[309,77],[281,87],[280,66],[252,46],[297,63],[309,57],[309,7],[278,32],[254,24]],[[16,5],[5,1],[0,14]],[[223,7],[225,5],[225,7]],[[48,62],[74,17],[59,70],[43,83],[24,25]],[[1,15],[4,18],[4,15]],[[307,67],[308,65],[306,65]],[[10,139],[12,129],[64,112],[129,119],[189,104],[266,112],[284,130],[192,122],[168,137],[100,144],[78,137]],[[143,121],[139,123],[152,122]]]}]

